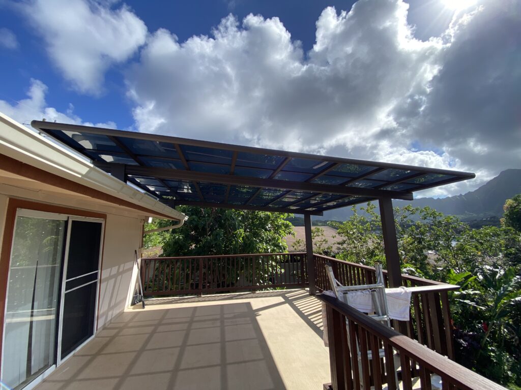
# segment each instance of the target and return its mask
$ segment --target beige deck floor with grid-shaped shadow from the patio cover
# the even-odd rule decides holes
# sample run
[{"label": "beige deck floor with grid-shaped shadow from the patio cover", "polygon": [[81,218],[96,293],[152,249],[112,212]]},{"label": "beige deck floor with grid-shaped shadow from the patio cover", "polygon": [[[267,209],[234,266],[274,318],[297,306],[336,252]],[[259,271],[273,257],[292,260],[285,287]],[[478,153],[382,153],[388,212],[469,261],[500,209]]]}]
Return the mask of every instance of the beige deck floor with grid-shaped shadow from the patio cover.
[{"label": "beige deck floor with grid-shaped shadow from the patio cover", "polygon": [[331,381],[321,329],[305,290],[157,298],[116,317],[36,389],[319,390]]}]

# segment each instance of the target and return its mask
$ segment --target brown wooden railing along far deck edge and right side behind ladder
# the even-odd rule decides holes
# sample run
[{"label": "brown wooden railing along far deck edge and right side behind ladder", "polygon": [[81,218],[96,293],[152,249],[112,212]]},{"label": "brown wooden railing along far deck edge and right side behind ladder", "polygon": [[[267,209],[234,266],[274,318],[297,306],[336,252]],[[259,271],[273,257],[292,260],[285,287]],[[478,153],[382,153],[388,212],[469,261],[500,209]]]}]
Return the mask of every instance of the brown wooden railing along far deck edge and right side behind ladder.
[{"label": "brown wooden railing along far deck edge and right side behind ladder", "polygon": [[[316,287],[330,290],[325,265],[331,263],[344,285],[375,282],[375,269],[336,258],[314,255]],[[387,272],[384,271],[387,282]],[[454,359],[448,291],[457,286],[402,275],[413,287],[411,320],[393,320],[393,328],[441,355]],[[307,287],[305,253],[142,258],[144,296],[210,294],[270,288]],[[421,288],[420,288],[421,287]],[[418,290],[419,289],[419,290]]]}]

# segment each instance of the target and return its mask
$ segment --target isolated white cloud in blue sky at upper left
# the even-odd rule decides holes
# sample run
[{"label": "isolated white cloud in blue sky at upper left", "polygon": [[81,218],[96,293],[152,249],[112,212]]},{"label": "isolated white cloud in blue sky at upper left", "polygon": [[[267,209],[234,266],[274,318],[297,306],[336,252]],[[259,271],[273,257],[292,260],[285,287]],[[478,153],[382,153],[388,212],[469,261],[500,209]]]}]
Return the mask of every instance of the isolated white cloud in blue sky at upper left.
[{"label": "isolated white cloud in blue sky at upper left", "polygon": [[48,56],[82,93],[99,95],[104,73],[128,60],[147,29],[126,5],[94,0],[31,0],[19,5],[44,37]]}]

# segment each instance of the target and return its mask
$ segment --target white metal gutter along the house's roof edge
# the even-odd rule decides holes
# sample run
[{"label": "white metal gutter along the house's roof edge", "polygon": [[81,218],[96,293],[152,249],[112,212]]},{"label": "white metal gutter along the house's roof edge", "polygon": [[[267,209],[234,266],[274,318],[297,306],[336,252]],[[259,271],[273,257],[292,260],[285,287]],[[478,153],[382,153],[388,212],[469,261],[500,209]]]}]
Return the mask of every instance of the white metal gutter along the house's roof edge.
[{"label": "white metal gutter along the house's roof edge", "polygon": [[[0,112],[0,154],[32,165],[36,168],[88,186],[110,196],[145,207],[165,216],[184,222],[185,215],[110,176],[65,149],[61,145],[30,131]],[[140,213],[143,213],[140,211]],[[176,225],[177,226],[177,225]]]}]

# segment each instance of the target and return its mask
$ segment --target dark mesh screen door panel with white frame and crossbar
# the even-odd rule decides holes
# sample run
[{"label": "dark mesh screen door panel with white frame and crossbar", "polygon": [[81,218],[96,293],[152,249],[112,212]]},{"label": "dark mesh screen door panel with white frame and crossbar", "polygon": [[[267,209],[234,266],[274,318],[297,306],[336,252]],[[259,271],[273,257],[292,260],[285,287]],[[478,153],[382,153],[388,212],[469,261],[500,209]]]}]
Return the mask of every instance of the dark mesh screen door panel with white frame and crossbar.
[{"label": "dark mesh screen door panel with white frame and crossbar", "polygon": [[59,360],[65,359],[94,335],[102,231],[101,220],[69,219]]}]

